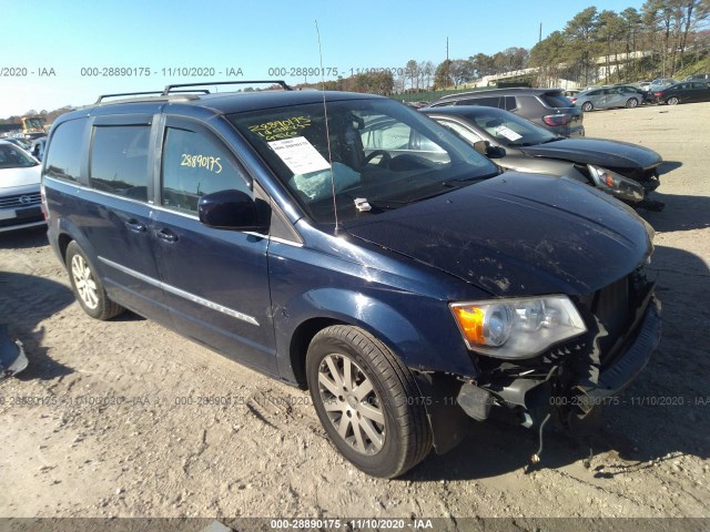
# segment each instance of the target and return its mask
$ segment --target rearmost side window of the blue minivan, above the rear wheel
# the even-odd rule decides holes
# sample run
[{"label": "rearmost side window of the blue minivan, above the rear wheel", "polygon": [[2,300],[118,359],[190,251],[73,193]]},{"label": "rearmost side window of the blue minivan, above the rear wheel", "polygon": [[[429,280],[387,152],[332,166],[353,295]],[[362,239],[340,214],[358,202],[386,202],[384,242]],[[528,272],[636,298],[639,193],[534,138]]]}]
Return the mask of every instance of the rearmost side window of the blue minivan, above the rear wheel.
[{"label": "rearmost side window of the blue minivan, above the rear wheel", "polygon": [[47,153],[45,176],[62,181],[79,181],[85,125],[87,119],[79,119],[57,126]]}]

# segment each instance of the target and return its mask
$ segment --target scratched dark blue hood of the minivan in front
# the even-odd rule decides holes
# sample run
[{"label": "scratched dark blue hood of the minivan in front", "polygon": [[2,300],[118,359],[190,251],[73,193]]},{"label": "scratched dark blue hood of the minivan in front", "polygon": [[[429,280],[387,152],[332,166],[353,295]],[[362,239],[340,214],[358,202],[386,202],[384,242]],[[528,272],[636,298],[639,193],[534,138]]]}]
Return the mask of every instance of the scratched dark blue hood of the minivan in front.
[{"label": "scratched dark blue hood of the minivan in front", "polygon": [[652,252],[632,209],[567,178],[507,172],[344,228],[494,296],[584,295]]}]

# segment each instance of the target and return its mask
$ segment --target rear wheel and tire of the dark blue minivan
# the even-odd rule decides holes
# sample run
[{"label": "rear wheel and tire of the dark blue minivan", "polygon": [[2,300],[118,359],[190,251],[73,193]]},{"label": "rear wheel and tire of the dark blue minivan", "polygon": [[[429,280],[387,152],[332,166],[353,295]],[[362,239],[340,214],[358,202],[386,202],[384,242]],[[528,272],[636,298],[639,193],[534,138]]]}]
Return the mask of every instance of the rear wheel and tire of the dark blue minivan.
[{"label": "rear wheel and tire of the dark blue minivan", "polygon": [[67,246],[67,270],[74,296],[84,313],[95,319],[110,319],[125,309],[106,296],[101,279],[83,249],[72,241]]}]

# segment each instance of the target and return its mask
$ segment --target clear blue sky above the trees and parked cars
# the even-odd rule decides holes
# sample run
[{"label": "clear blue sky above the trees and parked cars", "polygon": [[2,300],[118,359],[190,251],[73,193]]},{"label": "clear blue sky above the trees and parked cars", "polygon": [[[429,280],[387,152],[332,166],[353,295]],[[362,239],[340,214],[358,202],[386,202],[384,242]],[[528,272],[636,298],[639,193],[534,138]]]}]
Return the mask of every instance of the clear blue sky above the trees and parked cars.
[{"label": "clear blue sky above the trees and parked cars", "polygon": [[[621,12],[642,3],[597,0],[596,7]],[[410,59],[438,65],[447,39],[449,59],[530,49],[540,23],[545,38],[590,6],[591,0],[0,0],[0,117],[85,105],[100,94],[160,91],[169,83],[317,82],[321,64],[326,80],[336,79],[336,71],[346,78],[403,69]]]}]

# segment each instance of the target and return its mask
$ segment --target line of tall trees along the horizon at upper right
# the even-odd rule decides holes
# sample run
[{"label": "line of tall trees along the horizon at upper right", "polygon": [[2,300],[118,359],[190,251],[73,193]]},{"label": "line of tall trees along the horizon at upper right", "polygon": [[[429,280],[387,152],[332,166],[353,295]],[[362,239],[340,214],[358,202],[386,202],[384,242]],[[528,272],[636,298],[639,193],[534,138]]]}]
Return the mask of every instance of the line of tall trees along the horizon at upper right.
[{"label": "line of tall trees along the horizon at upper right", "polygon": [[588,85],[599,81],[597,58],[605,59],[610,82],[670,78],[688,61],[708,57],[709,20],[710,0],[647,0],[640,10],[627,8],[619,13],[590,7],[530,50],[511,47],[493,55],[446,59],[436,66],[412,59],[399,75],[361,73],[297,86],[388,95],[442,90],[527,68],[539,69],[538,85],[560,78]]}]

